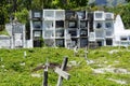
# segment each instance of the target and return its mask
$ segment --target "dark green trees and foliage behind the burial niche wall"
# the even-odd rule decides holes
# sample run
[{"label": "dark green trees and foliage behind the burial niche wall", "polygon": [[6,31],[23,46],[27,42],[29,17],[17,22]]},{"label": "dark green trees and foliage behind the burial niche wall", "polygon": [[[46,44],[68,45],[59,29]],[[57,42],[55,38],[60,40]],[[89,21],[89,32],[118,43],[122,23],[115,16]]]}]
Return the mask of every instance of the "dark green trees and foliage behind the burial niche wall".
[{"label": "dark green trees and foliage behind the burial niche wall", "polygon": [[[0,2],[0,26],[9,23],[16,16],[20,22],[27,24],[29,10],[41,9],[64,9],[64,10],[86,10],[96,11],[104,10],[120,14],[127,29],[130,28],[130,1],[127,4],[118,4],[116,6],[96,6],[88,4],[89,0],[2,0]],[[26,25],[28,26],[28,25]],[[3,29],[1,27],[0,29]]]}]

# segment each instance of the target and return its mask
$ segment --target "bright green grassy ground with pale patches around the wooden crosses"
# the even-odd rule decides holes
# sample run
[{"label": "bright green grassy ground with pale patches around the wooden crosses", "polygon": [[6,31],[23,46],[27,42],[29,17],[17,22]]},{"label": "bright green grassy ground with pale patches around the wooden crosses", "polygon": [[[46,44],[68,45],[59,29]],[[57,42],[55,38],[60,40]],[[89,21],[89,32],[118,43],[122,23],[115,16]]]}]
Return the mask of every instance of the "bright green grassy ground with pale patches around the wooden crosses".
[{"label": "bright green grassy ground with pale patches around the wooden crosses", "polygon": [[[130,86],[130,51],[123,47],[89,49],[87,59],[83,48],[76,56],[66,48],[0,49],[0,86],[41,86],[43,70],[32,70],[47,58],[61,64],[64,56],[70,80],[64,80],[63,86]],[[49,86],[55,86],[57,77],[49,69]]]}]

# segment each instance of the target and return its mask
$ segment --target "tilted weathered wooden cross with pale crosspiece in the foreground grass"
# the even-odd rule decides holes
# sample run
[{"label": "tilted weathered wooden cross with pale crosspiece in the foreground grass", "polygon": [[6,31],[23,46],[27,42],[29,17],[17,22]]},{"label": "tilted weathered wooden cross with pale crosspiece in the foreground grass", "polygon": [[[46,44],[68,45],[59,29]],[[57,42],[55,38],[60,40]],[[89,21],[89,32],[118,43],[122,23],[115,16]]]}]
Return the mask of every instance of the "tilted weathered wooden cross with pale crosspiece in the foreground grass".
[{"label": "tilted weathered wooden cross with pale crosspiece in the foreground grass", "polygon": [[57,80],[56,86],[62,86],[63,78],[69,80],[69,77],[70,77],[70,75],[67,72],[65,72],[66,66],[67,66],[67,60],[68,60],[68,58],[65,57],[63,60],[61,69],[60,68],[55,69],[55,72],[58,74],[58,80]]}]

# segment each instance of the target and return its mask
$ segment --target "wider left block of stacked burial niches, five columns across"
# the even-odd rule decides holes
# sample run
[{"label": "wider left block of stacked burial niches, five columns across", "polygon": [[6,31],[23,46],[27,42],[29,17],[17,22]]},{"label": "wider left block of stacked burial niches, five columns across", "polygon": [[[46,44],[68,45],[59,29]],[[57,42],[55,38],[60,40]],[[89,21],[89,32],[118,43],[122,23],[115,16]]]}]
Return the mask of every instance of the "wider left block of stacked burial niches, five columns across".
[{"label": "wider left block of stacked burial niches, five columns across", "polygon": [[60,47],[84,47],[88,44],[86,11],[43,10],[30,11],[30,29],[34,47],[46,45]]}]

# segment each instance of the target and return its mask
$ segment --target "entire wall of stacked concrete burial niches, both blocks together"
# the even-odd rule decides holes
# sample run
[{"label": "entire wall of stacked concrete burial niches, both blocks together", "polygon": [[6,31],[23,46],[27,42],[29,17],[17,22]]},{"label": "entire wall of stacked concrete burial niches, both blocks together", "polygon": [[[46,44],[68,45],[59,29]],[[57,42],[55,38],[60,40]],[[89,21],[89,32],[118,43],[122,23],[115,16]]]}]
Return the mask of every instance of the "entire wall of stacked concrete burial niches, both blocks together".
[{"label": "entire wall of stacked concrete burial niches, both blocks together", "polygon": [[41,46],[43,39],[48,46],[86,47],[113,45],[114,14],[103,11],[30,11],[32,46]]}]

